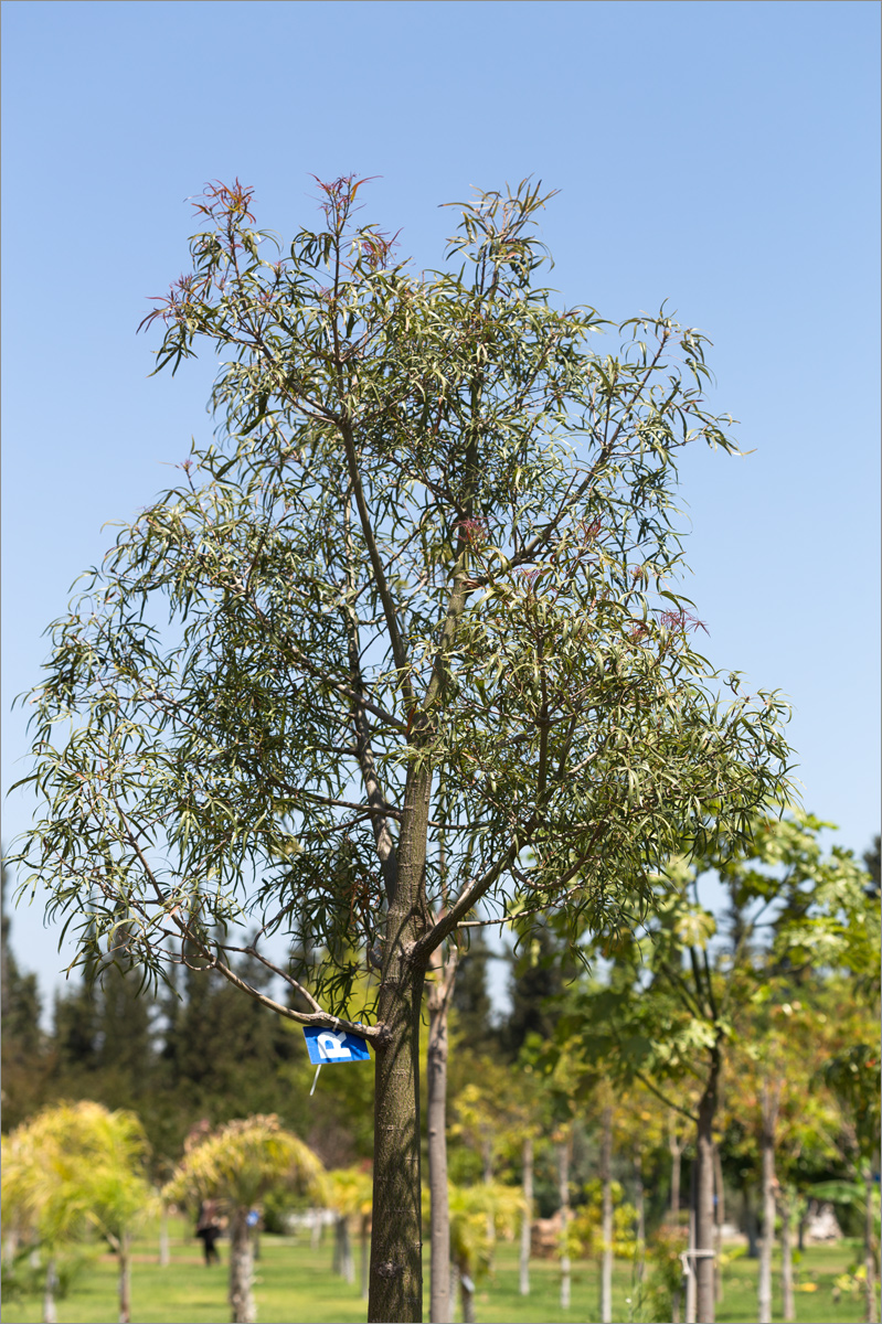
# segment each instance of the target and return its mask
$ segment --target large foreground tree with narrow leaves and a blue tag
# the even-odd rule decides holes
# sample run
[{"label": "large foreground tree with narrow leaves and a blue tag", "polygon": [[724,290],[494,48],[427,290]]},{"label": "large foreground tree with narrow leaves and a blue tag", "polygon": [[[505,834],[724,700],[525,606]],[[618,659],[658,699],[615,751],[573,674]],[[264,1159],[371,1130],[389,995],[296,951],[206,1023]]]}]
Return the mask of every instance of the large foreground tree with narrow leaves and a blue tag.
[{"label": "large foreground tree with narrow leaves and a blue tag", "polygon": [[[683,831],[736,839],[788,751],[776,698],[719,704],[674,592],[678,451],[734,450],[705,338],[662,310],[596,352],[593,310],[535,285],[538,187],[462,204],[452,265],[418,275],[356,224],[362,187],[319,184],[323,229],[278,261],[252,189],[196,203],[193,269],[146,322],[156,371],[226,355],[217,442],[54,626],[19,858],[99,965],[200,953],[369,1041],[388,1321],[421,1313],[432,953],[479,906],[599,923]],[[234,969],[246,914],[320,957],[249,944],[309,1010]]]}]

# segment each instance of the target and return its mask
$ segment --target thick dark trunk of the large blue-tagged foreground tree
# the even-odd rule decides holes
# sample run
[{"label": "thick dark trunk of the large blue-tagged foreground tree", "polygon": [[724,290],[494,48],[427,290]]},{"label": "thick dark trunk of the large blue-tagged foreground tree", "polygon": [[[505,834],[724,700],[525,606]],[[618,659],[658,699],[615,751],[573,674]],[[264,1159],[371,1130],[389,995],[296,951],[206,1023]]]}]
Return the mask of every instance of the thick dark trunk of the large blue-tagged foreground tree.
[{"label": "thick dark trunk of the large blue-tagged foreground tree", "polygon": [[373,1090],[371,1324],[422,1320],[420,1014],[425,969],[412,952],[428,924],[424,869],[430,771],[408,773],[397,882],[385,922]]}]

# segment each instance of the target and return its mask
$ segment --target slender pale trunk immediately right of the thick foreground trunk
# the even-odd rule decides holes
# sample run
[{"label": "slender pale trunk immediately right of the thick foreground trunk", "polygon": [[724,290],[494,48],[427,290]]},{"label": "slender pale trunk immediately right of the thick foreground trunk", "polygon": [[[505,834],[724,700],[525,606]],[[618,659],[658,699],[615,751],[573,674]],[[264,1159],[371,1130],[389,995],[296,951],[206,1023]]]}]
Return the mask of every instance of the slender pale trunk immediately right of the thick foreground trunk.
[{"label": "slender pale trunk immediately right of the thick foreground trunk", "polygon": [[446,961],[440,949],[432,953],[429,985],[428,1131],[429,1131],[429,1319],[449,1324],[450,1311],[450,1210],[448,1202],[448,1013],[456,982],[458,953],[450,948]]}]

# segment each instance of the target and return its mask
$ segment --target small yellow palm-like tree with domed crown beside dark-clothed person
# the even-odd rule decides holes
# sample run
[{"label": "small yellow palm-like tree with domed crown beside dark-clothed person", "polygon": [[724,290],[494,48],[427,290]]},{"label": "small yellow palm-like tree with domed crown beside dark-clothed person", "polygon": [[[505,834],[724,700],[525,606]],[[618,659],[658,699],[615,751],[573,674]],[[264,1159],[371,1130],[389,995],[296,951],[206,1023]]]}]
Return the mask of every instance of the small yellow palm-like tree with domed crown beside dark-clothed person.
[{"label": "small yellow palm-like tree with domed crown beside dark-clothed person", "polygon": [[222,1201],[229,1211],[229,1303],[233,1324],[253,1324],[253,1247],[248,1215],[271,1192],[289,1189],[320,1196],[324,1169],[278,1117],[229,1121],[193,1145],[163,1190],[166,1200],[199,1207]]}]

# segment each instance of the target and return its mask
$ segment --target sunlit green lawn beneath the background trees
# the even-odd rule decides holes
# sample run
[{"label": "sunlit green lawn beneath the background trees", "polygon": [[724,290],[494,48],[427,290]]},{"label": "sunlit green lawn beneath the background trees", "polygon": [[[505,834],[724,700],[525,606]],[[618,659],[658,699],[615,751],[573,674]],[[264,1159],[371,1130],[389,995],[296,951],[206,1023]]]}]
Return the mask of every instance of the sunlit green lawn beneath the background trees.
[{"label": "sunlit green lawn beneath the background trees", "polygon": [[[173,1222],[171,1231],[172,1262],[168,1268],[159,1268],[155,1234],[134,1247],[132,1320],[136,1324],[224,1324],[229,1319],[226,1243],[220,1243],[224,1262],[205,1268],[200,1243],[189,1237],[189,1225]],[[366,1319],[366,1304],[358,1286],[348,1286],[330,1271],[328,1235],[315,1253],[309,1238],[295,1241],[266,1235],[261,1249],[254,1287],[260,1324],[356,1324]],[[817,1290],[797,1291],[799,1324],[857,1324],[863,1317],[859,1298],[833,1300],[834,1279],[852,1259],[853,1247],[848,1245],[816,1247],[807,1253],[799,1268],[800,1282],[817,1283]],[[534,1262],[531,1280],[531,1295],[524,1299],[518,1292],[516,1249],[499,1246],[495,1278],[478,1284],[475,1315],[479,1324],[514,1324],[519,1320],[524,1324],[587,1324],[599,1317],[597,1276],[592,1264],[575,1267],[572,1308],[567,1313],[559,1305],[560,1271],[556,1263]],[[630,1291],[630,1267],[617,1264],[613,1292],[616,1324],[633,1317],[628,1296],[636,1300],[636,1294]],[[780,1311],[780,1300],[776,1304]],[[0,1311],[3,1324],[40,1324],[40,1319],[41,1301],[36,1296],[9,1301]],[[724,1300],[716,1319],[719,1324],[750,1324],[756,1320],[756,1262],[736,1259],[728,1267]],[[775,1319],[780,1319],[779,1312]],[[117,1266],[113,1256],[101,1256],[86,1264],[69,1296],[58,1301],[58,1320],[60,1324],[115,1324]]]}]

